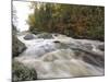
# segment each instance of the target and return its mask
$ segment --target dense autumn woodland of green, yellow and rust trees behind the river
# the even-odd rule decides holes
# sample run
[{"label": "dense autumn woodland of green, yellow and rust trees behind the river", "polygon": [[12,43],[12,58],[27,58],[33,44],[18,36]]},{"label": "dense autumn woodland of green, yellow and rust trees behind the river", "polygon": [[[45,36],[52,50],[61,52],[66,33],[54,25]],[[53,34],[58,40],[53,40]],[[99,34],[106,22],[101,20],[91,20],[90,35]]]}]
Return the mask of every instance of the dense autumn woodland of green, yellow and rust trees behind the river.
[{"label": "dense autumn woodland of green, yellow and rust trees behind the river", "polygon": [[49,32],[104,40],[104,7],[32,2],[31,8],[34,13],[29,14],[27,23],[34,34]]}]

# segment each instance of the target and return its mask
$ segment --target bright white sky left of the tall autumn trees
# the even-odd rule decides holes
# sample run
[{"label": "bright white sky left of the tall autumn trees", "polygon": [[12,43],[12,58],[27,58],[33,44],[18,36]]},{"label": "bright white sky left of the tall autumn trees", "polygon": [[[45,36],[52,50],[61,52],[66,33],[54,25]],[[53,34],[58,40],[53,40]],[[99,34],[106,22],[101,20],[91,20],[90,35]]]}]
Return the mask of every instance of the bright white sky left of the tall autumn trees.
[{"label": "bright white sky left of the tall autumn trees", "polygon": [[32,9],[29,9],[31,2],[24,2],[24,1],[13,1],[13,7],[16,10],[16,16],[17,16],[17,30],[20,32],[27,31],[28,24],[26,23],[26,20],[28,17],[28,14],[32,13]]}]

